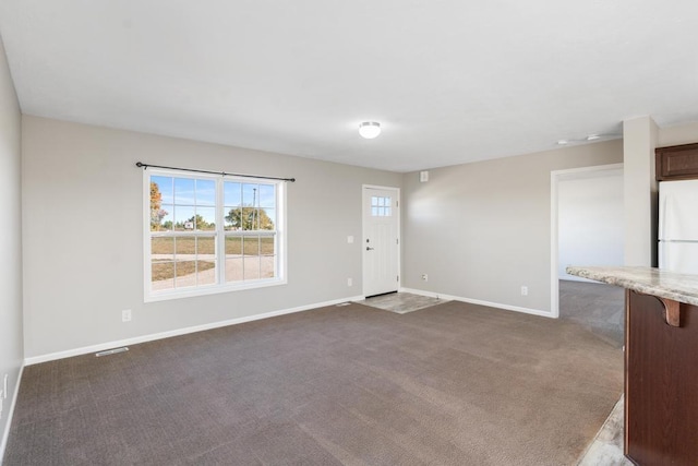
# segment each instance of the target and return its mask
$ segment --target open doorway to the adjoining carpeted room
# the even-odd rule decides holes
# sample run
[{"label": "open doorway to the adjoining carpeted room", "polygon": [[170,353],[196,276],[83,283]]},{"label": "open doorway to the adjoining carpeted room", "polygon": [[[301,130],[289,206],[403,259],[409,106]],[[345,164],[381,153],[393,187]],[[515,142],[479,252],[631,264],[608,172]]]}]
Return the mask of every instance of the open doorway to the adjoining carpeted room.
[{"label": "open doorway to the adjoining carpeted room", "polygon": [[622,345],[623,290],[566,274],[623,265],[623,164],[551,172],[551,310]]}]

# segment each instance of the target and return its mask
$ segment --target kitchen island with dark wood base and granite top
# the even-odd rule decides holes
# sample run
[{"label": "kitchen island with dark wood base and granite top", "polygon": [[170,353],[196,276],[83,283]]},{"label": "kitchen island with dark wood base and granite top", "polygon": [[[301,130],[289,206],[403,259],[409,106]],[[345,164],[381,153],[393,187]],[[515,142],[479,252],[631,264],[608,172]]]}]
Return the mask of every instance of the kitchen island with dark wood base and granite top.
[{"label": "kitchen island with dark wood base and granite top", "polygon": [[625,455],[698,465],[698,275],[651,267],[567,267],[626,288]]}]

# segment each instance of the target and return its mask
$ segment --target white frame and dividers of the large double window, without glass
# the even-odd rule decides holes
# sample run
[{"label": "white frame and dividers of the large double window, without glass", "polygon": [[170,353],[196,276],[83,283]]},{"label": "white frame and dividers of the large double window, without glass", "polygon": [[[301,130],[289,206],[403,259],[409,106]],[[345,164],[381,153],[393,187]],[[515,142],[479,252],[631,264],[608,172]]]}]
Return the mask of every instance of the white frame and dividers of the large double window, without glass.
[{"label": "white frame and dividers of the large double window, without glass", "polygon": [[[151,231],[151,177],[164,176],[186,179],[214,180],[216,182],[216,229],[212,231],[190,232],[173,231],[160,234],[161,236],[213,236],[216,238],[216,283],[186,288],[173,288],[153,291],[152,286],[152,237]],[[265,236],[264,230],[236,231],[231,235],[225,230],[224,182],[264,183],[276,187],[276,260],[275,276],[272,278],[258,278],[242,282],[226,283],[225,279],[225,240],[227,236]],[[269,234],[273,235],[273,234]],[[234,177],[231,175],[208,175],[197,172],[182,172],[148,167],[143,170],[143,296],[144,302],[164,301],[169,299],[189,298],[194,296],[231,292],[243,289],[264,288],[269,286],[286,285],[287,279],[287,235],[286,235],[286,182],[282,180],[269,180],[263,178]]]}]

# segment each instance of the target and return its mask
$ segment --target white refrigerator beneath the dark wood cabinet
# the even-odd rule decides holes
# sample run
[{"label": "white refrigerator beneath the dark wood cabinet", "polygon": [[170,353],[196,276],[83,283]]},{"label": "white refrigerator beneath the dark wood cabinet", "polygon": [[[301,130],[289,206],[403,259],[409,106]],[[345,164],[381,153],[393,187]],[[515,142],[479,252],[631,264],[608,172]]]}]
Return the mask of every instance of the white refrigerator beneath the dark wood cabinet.
[{"label": "white refrigerator beneath the dark wood cabinet", "polygon": [[698,180],[659,183],[659,267],[698,274]]}]

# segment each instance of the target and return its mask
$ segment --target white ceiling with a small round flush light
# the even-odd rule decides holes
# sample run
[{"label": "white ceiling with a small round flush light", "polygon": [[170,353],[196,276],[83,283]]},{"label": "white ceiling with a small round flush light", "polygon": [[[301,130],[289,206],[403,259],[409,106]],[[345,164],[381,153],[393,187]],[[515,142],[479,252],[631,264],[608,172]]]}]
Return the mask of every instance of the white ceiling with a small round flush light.
[{"label": "white ceiling with a small round flush light", "polygon": [[0,0],[24,113],[395,171],[698,121],[697,19],[696,0]]}]

